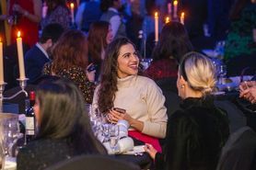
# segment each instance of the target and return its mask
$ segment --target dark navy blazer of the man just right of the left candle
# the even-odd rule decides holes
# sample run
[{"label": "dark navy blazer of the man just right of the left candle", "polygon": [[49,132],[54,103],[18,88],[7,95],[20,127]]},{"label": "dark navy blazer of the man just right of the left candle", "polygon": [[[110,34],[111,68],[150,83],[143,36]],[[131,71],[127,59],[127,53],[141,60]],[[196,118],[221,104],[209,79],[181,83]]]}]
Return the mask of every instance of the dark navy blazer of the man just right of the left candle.
[{"label": "dark navy blazer of the man just right of the left candle", "polygon": [[36,45],[26,52],[25,69],[30,84],[41,77],[42,67],[46,62],[50,62],[50,60]]}]

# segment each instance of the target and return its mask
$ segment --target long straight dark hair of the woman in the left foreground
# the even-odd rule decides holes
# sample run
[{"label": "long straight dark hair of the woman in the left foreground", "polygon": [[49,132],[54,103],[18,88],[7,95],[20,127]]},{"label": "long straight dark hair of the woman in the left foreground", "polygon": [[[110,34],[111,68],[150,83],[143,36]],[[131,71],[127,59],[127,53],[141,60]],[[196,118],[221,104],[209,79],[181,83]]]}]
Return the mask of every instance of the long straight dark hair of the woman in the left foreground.
[{"label": "long straight dark hair of the woman in the left foreground", "polygon": [[36,91],[40,105],[38,139],[66,141],[76,154],[106,153],[94,136],[84,98],[66,79],[44,81]]}]

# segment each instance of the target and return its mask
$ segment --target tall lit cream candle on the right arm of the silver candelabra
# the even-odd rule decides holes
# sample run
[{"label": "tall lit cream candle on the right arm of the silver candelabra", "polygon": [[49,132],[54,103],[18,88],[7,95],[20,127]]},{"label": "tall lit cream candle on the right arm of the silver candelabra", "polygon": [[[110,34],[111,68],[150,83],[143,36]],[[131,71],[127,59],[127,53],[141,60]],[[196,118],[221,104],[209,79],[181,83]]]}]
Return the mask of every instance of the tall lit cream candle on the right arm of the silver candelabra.
[{"label": "tall lit cream candle on the right arm of the silver candelabra", "polygon": [[24,69],[24,57],[23,57],[23,47],[22,39],[20,37],[20,31],[17,31],[17,57],[18,57],[18,67],[19,67],[19,79],[26,79],[25,69]]}]

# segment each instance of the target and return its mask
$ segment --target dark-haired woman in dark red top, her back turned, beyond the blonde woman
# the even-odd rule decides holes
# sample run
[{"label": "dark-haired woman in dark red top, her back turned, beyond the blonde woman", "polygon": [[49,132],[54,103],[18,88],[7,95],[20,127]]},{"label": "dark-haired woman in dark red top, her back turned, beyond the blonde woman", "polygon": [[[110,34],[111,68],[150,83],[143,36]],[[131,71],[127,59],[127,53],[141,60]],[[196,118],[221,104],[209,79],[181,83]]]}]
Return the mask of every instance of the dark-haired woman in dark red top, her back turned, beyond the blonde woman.
[{"label": "dark-haired woman in dark red top, her back turned, beyond the blonde woman", "polygon": [[176,79],[181,57],[189,51],[192,51],[192,43],[184,26],[175,21],[167,23],[162,28],[152,53],[153,62],[145,74],[155,81],[170,77]]}]

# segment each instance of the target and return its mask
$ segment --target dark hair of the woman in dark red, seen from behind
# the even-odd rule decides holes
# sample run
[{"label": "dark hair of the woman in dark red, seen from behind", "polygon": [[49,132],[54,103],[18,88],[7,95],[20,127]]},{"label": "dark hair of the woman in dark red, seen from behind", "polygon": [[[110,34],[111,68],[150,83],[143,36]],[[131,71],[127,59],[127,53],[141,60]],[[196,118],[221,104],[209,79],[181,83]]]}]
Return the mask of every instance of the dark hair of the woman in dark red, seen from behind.
[{"label": "dark hair of the woman in dark red, seen from behind", "polygon": [[159,41],[152,53],[153,62],[169,57],[180,62],[181,57],[192,49],[192,43],[184,26],[180,22],[172,21],[162,28]]}]

